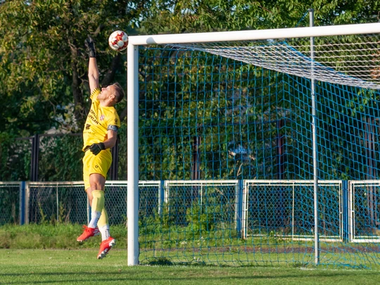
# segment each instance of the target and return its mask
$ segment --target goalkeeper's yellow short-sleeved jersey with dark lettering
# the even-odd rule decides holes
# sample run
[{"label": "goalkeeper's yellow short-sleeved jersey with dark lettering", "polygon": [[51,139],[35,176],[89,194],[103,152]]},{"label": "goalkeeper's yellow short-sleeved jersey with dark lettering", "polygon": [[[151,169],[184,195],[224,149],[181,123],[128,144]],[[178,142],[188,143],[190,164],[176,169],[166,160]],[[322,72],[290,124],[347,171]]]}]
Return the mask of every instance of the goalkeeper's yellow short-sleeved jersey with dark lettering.
[{"label": "goalkeeper's yellow short-sleeved jersey with dark lettering", "polygon": [[99,88],[92,91],[91,109],[87,115],[86,123],[83,130],[83,151],[99,142],[106,141],[108,129],[113,129],[118,132],[120,127],[120,118],[116,109],[113,106],[101,106],[98,100],[98,95],[101,93]]}]

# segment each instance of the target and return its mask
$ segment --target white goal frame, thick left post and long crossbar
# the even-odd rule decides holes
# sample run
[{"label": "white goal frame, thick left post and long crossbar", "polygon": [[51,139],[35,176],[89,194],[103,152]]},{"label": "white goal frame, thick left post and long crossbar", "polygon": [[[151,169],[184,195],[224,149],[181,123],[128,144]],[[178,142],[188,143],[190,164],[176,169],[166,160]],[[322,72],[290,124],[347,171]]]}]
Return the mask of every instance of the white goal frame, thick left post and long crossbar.
[{"label": "white goal frame, thick left post and long crossbar", "polygon": [[[299,37],[310,37],[310,39],[312,39],[313,37],[378,33],[380,33],[380,23],[129,37],[129,44],[127,47],[128,265],[139,264],[139,46],[147,46],[150,44],[232,42]],[[314,126],[312,126],[312,128],[315,129]],[[315,168],[317,167],[316,163],[317,161],[314,161],[313,163]],[[314,175],[314,181],[317,184],[317,175],[316,173]],[[317,193],[317,186],[315,186],[315,193]],[[315,236],[317,236],[317,231],[315,232]],[[319,241],[315,239],[316,264],[319,262],[318,243]]]}]

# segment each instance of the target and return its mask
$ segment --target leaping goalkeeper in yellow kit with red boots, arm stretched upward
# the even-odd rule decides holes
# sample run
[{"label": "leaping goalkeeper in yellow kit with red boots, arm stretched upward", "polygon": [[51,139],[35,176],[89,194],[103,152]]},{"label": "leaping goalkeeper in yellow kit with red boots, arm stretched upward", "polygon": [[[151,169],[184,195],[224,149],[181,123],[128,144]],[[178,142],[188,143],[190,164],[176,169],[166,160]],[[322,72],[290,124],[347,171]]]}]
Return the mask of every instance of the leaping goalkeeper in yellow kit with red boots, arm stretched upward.
[{"label": "leaping goalkeeper in yellow kit with red boots, arm stretched upward", "polygon": [[106,88],[99,87],[99,70],[96,64],[94,40],[88,37],[84,42],[89,53],[89,87],[91,109],[83,130],[83,180],[91,205],[91,220],[77,241],[85,241],[101,233],[98,259],[106,256],[115,245],[110,236],[108,215],[104,208],[104,186],[112,162],[110,148],[115,146],[120,119],[114,106],[122,101],[124,91],[115,83]]}]

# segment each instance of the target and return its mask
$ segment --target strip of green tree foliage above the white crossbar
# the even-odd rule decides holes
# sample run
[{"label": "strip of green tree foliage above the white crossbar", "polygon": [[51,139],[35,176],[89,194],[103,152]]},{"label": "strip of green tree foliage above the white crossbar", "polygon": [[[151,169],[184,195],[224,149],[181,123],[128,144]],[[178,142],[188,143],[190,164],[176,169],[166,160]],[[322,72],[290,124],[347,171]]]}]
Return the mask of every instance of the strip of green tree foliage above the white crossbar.
[{"label": "strip of green tree foliage above the white crossbar", "polygon": [[153,33],[296,27],[309,8],[315,9],[315,25],[373,23],[380,10],[376,0],[156,0],[153,7],[145,23]]}]

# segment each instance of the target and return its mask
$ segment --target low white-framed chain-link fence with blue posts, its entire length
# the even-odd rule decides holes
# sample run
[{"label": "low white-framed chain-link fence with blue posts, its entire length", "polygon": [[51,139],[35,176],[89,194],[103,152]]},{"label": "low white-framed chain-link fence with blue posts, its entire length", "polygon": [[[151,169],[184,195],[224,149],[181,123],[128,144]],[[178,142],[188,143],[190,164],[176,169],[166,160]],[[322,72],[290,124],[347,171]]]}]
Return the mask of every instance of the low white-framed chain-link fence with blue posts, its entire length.
[{"label": "low white-framed chain-link fence with blue posts, its entire length", "polygon": [[[312,239],[312,181],[198,180],[139,182],[139,216],[171,213],[186,227],[194,206],[213,222],[233,224],[243,239],[281,235]],[[380,241],[380,180],[319,181],[319,232],[324,241]],[[83,182],[0,182],[0,224],[89,221]],[[110,224],[127,223],[127,181],[106,182]]]}]

